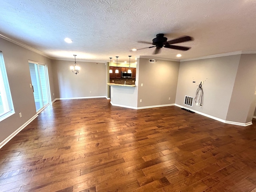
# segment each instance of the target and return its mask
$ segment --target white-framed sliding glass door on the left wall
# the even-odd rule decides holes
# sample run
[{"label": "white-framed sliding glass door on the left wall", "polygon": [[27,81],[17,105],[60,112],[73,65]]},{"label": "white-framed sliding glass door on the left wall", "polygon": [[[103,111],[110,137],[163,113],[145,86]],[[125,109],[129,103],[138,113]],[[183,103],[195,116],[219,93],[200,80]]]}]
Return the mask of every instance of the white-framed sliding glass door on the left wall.
[{"label": "white-framed sliding glass door on the left wall", "polygon": [[33,86],[36,111],[38,112],[49,104],[46,65],[29,62],[29,70]]}]

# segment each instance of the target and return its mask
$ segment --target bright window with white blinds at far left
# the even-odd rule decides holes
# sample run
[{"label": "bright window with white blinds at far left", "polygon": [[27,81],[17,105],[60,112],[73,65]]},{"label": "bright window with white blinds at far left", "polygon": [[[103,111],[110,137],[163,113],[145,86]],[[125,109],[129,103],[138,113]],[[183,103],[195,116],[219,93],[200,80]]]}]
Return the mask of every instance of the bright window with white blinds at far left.
[{"label": "bright window with white blinds at far left", "polygon": [[0,121],[14,114],[12,96],[4,65],[4,57],[0,51]]}]

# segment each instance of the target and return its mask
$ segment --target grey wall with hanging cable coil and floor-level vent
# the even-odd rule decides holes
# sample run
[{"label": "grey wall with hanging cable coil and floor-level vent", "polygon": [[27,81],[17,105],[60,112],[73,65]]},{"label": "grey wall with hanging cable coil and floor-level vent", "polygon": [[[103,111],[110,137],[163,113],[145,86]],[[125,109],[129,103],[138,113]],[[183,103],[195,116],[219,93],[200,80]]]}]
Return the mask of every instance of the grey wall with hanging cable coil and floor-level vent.
[{"label": "grey wall with hanging cable coil and floor-level vent", "polygon": [[[239,62],[240,54],[180,62],[175,103],[226,120]],[[195,102],[192,107],[184,105],[185,96],[195,98],[200,81],[204,81],[202,107]]]}]

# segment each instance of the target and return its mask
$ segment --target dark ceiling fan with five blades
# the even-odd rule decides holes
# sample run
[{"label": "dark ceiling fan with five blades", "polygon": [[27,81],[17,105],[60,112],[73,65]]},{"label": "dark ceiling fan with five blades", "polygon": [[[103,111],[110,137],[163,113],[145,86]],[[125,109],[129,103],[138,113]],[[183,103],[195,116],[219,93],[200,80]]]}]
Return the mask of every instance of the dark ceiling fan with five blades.
[{"label": "dark ceiling fan with five blades", "polygon": [[190,47],[176,46],[176,45],[172,45],[172,44],[182,43],[182,42],[187,42],[187,41],[192,41],[192,40],[193,40],[193,38],[190,36],[182,36],[182,37],[176,38],[174,40],[167,41],[167,38],[164,37],[164,34],[160,33],[160,34],[157,34],[156,38],[154,38],[152,40],[153,43],[146,42],[146,41],[138,41],[138,43],[152,44],[154,46],[145,47],[145,48],[141,48],[141,49],[137,49],[137,50],[156,47],[153,54],[158,54],[162,47],[186,51],[186,50],[189,50]]}]

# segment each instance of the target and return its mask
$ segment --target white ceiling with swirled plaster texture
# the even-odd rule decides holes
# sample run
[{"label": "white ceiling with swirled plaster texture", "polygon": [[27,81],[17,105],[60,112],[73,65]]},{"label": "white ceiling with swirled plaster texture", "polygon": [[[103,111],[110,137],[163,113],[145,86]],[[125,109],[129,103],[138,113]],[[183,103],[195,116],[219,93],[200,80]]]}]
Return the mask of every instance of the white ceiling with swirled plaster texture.
[{"label": "white ceiling with swirled plaster texture", "polygon": [[[0,34],[50,58],[92,62],[128,55],[189,59],[256,51],[255,0],[3,0]],[[144,48],[158,33],[168,40],[188,35],[188,51]],[[64,38],[73,40],[72,44]],[[1,46],[1,45],[0,45]],[[176,58],[176,54],[182,54]]]}]

